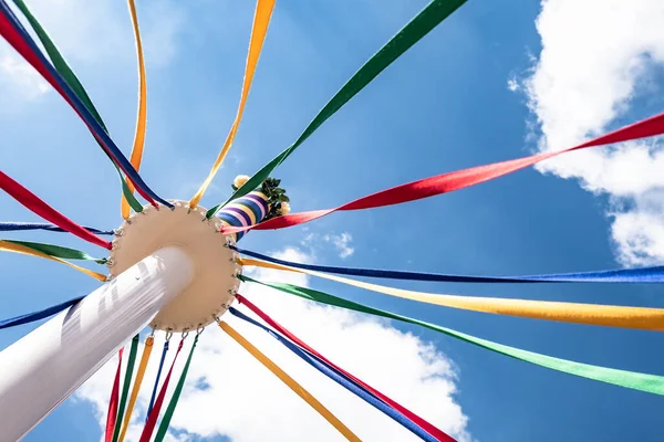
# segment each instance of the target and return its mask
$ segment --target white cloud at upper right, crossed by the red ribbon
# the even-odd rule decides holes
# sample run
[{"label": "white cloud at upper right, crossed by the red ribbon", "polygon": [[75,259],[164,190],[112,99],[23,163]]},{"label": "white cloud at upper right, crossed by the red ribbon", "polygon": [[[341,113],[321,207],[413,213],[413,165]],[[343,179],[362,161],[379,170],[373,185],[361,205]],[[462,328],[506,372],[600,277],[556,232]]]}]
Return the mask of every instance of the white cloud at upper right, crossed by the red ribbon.
[{"label": "white cloud at upper right, crossed by the red ribbon", "polygon": [[[542,1],[537,19],[542,50],[521,85],[540,124],[541,150],[570,147],[615,127],[634,98],[657,90],[653,67],[664,63],[663,21],[658,0]],[[664,204],[645,202],[662,196],[662,146],[644,140],[587,149],[538,169],[578,178],[584,189],[611,197],[620,261],[664,262]]]}]

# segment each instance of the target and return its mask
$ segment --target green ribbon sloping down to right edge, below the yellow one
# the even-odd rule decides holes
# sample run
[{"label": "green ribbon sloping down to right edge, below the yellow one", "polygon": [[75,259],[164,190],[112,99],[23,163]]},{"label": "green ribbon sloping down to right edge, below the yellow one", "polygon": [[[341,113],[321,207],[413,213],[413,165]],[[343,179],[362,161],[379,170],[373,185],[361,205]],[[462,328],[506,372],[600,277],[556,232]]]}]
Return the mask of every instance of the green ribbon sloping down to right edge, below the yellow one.
[{"label": "green ribbon sloping down to right edge, below the yellow one", "polygon": [[600,382],[613,383],[614,386],[664,396],[664,377],[662,376],[618,370],[614,368],[592,366],[589,364],[574,362],[572,360],[540,355],[538,352],[522,350],[520,348],[509,347],[502,344],[497,344],[490,340],[477,338],[475,336],[466,335],[464,333],[442,327],[439,325],[429,324],[424,320],[414,319],[407,316],[397,315],[395,313],[385,312],[378,308],[356,304],[352,301],[346,301],[311,288],[299,287],[297,285],[283,283],[263,283],[243,275],[240,275],[239,277],[241,281],[262,284],[267,287],[276,288],[281,292],[289,293],[291,295],[300,296],[304,299],[315,301],[318,303],[334,305],[336,307],[347,308],[355,312],[366,313],[370,315],[376,315],[390,319],[396,319],[402,320],[404,323],[419,325],[432,330],[443,333],[447,336],[452,336],[453,338],[460,339],[466,343],[476,345],[478,347],[498,352],[500,355],[509,356],[511,358],[522,360],[525,362],[535,364],[536,366],[550,368],[552,370],[562,371],[569,375],[580,376],[582,378],[599,380]]}]

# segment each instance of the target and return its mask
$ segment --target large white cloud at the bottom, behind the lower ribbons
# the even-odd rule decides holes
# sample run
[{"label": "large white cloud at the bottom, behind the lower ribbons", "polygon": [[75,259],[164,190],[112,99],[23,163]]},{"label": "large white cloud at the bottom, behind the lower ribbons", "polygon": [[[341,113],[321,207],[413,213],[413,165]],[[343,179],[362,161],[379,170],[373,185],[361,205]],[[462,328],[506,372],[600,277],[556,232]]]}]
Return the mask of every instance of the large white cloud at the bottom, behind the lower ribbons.
[{"label": "large white cloud at the bottom, behind the lower ribbons", "polygon": [[[293,249],[278,255],[284,260],[310,260],[309,255]],[[294,273],[259,270],[255,276],[263,281],[308,285],[305,275]],[[341,367],[459,440],[470,440],[466,430],[467,418],[454,400],[457,393],[456,370],[453,362],[433,345],[397,330],[387,322],[314,305],[269,288],[249,284],[243,285],[241,292]],[[417,440],[298,359],[264,332],[237,320],[230,314],[225,315],[224,319],[309,389],[361,439]],[[159,338],[163,339],[162,336]],[[160,351],[160,346],[162,341],[155,343],[155,354]],[[157,358],[153,356],[148,367],[138,400],[141,413],[146,409]],[[115,364],[116,360],[106,364],[76,392],[76,398],[94,404],[101,425],[105,421],[103,413],[107,407]],[[175,375],[178,372],[176,369]],[[139,421],[135,419],[128,440],[138,439]],[[177,429],[180,440],[186,440],[187,434],[226,434],[240,442],[273,440],[274,434],[284,441],[310,441],[313,434],[317,441],[341,439],[309,406],[216,326],[209,326],[200,338],[172,427]]]}]

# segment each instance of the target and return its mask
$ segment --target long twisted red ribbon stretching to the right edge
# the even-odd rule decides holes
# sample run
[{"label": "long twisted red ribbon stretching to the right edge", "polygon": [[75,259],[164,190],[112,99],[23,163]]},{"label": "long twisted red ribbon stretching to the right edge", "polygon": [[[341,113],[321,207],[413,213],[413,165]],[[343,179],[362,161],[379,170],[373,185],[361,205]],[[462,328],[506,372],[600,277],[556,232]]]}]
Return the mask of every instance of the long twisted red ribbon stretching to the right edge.
[{"label": "long twisted red ribbon stretching to the right edge", "polygon": [[463,169],[454,172],[447,172],[435,177],[425,178],[418,181],[408,182],[406,185],[393,187],[392,189],[383,190],[381,192],[360,198],[355,201],[351,201],[335,209],[312,210],[309,212],[290,213],[282,217],[272,218],[268,221],[261,222],[260,224],[249,227],[222,227],[221,233],[230,234],[250,229],[284,229],[292,225],[298,225],[309,221],[313,221],[318,218],[322,218],[326,214],[336,211],[372,209],[384,206],[400,204],[402,202],[415,201],[423,198],[428,198],[436,194],[447,193],[455,190],[464,189],[466,187],[479,185],[480,182],[502,177],[505,175],[532,166],[536,162],[543,161],[546,159],[572,150],[652,137],[655,135],[662,135],[663,133],[664,114],[660,114],[654,117],[632,124],[630,126],[622,127],[618,130],[587,141],[582,145],[571,147],[569,149],[556,152],[537,154],[529,157],[473,167],[469,169]]}]

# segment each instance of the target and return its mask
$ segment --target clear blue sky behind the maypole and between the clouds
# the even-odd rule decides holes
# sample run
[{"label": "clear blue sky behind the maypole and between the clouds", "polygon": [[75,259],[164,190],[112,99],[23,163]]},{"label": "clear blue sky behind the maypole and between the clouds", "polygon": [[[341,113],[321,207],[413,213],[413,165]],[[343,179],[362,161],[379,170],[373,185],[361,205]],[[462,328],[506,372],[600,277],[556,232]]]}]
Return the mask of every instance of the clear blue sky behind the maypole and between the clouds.
[{"label": "clear blue sky behind the maypole and between the clouds", "polygon": [[[253,6],[209,0],[186,7],[165,0],[149,7],[142,3],[138,13],[146,40],[149,87],[142,176],[162,197],[188,199],[207,173],[235,115]],[[49,10],[38,4],[38,17],[40,8]],[[115,141],[128,152],[136,77],[125,7],[106,2],[81,6],[68,0],[61,11],[73,10],[71,4],[83,8],[82,19],[64,25],[68,15],[62,12],[44,17],[43,22],[56,42],[62,36],[64,54],[97,104]],[[290,145],[345,80],[424,4],[370,0],[278,2],[235,146],[203,204],[211,207],[224,200],[236,175],[251,175]],[[635,9],[647,10],[646,6]],[[547,107],[546,94],[531,80],[537,75],[533,66],[542,60],[542,35],[535,24],[540,12],[536,1],[470,1],[464,6],[274,172],[283,180],[293,209],[333,207],[417,178],[527,155],[541,148],[546,143],[542,139],[551,141],[554,135],[542,131],[537,118],[546,123],[548,114],[540,110],[552,105]],[[601,28],[601,23],[596,25]],[[590,31],[588,38],[593,40]],[[0,61],[9,53],[2,50],[6,52],[0,52]],[[649,98],[662,84],[655,66],[657,56],[652,55],[653,65],[644,65],[641,76],[634,77],[635,85],[626,97],[619,94],[615,98],[629,106],[610,117],[598,117],[599,123],[589,125],[588,130],[660,112],[661,98]],[[582,67],[570,62],[572,72]],[[0,149],[2,170],[80,223],[103,229],[118,225],[115,172],[84,125],[54,93],[40,93],[33,81],[11,83],[8,72],[0,75],[1,93],[8,103],[0,108],[6,146]],[[601,78],[601,72],[594,74]],[[640,85],[643,75],[647,82]],[[533,94],[539,97],[535,105]],[[612,91],[606,94],[615,95]],[[640,173],[639,165],[629,166],[629,171]],[[468,274],[572,272],[635,263],[624,252],[629,241],[621,243],[615,215],[608,213],[625,213],[629,210],[624,207],[639,207],[642,200],[632,198],[633,192],[629,197],[632,199],[625,199],[605,183],[595,186],[583,172],[561,171],[564,165],[556,167],[548,170],[552,173],[528,169],[414,203],[336,213],[305,228],[252,232],[242,244],[259,252],[298,248],[311,260],[332,265]],[[580,178],[585,190],[578,179],[558,176]],[[0,203],[2,220],[37,220],[7,196],[0,196]],[[344,232],[352,236],[354,253],[342,259],[324,235]],[[303,244],[307,236],[310,240]],[[103,253],[66,234],[11,238]],[[661,260],[656,251],[651,255],[650,262]],[[0,269],[6,292],[0,297],[0,311],[7,317],[96,286],[64,266],[32,257],[2,254]],[[323,281],[309,283],[502,344],[594,365],[664,372],[664,359],[651,350],[662,345],[655,333],[459,312],[388,299]],[[654,286],[392,285],[480,296],[663,304]],[[433,343],[453,361],[458,389],[454,400],[468,418],[465,431],[475,440],[661,439],[658,397],[561,375],[433,332],[393,325]],[[31,328],[3,330],[0,347]],[[400,380],[395,377],[393,381]],[[85,401],[70,400],[25,440],[96,440],[101,430],[94,412]]]}]

